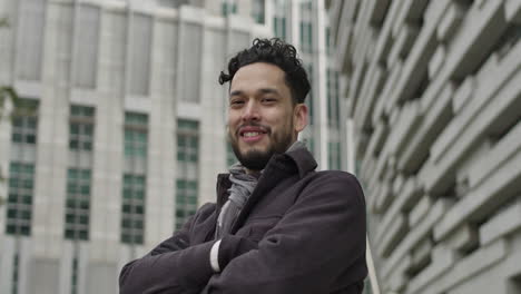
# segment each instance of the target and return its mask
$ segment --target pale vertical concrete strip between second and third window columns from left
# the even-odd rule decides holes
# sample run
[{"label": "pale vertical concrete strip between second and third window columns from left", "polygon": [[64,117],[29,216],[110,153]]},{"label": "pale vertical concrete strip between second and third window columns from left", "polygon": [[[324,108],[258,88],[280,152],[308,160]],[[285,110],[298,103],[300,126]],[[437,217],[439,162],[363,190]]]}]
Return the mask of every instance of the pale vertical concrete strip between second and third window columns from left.
[{"label": "pale vertical concrete strip between second and third window columns from left", "polygon": [[127,16],[122,7],[104,10],[100,26],[90,217],[91,258],[116,261],[119,248],[122,178],[122,97]]}]

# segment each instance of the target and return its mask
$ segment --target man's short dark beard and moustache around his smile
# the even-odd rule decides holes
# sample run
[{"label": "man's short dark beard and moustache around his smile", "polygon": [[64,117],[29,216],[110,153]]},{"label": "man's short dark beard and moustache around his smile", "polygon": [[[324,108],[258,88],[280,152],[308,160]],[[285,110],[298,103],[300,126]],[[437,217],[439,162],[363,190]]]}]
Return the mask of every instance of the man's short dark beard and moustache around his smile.
[{"label": "man's short dark beard and moustache around his smile", "polygon": [[[258,126],[266,129],[266,136],[271,139],[269,145],[265,150],[259,150],[254,147],[244,153],[240,151],[238,146],[238,133],[235,138],[228,131],[229,141],[232,144],[232,149],[234,150],[235,156],[239,163],[250,170],[262,170],[266,167],[267,163],[275,154],[283,154],[289,148],[289,145],[293,143],[293,135],[291,131],[285,131],[284,134],[273,134],[272,128],[266,126],[260,126],[258,124],[248,124],[249,126]],[[293,125],[293,124],[292,124]],[[240,129],[240,128],[238,128]]]}]

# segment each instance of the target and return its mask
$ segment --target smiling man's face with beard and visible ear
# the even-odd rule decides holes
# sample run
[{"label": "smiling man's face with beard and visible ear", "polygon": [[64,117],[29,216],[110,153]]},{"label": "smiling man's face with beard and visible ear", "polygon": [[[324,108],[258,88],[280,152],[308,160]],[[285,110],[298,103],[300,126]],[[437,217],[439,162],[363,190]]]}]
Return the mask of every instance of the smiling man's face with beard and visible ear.
[{"label": "smiling man's face with beard and visible ear", "polygon": [[247,169],[260,170],[272,155],[286,151],[306,122],[307,108],[293,104],[281,68],[256,62],[237,70],[229,89],[228,136]]}]

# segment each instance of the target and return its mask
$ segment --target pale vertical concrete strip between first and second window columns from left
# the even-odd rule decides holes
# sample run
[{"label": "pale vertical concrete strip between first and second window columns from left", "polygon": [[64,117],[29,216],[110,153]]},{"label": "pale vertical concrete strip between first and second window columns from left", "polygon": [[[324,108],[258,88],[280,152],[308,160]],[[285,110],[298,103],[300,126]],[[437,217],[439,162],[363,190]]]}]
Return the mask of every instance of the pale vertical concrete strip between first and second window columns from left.
[{"label": "pale vertical concrete strip between first and second window columns from left", "polygon": [[[43,66],[46,82],[38,111],[33,235],[37,256],[57,257],[61,252],[68,148],[72,4],[51,2],[47,10]],[[46,263],[42,262],[43,267]]]}]

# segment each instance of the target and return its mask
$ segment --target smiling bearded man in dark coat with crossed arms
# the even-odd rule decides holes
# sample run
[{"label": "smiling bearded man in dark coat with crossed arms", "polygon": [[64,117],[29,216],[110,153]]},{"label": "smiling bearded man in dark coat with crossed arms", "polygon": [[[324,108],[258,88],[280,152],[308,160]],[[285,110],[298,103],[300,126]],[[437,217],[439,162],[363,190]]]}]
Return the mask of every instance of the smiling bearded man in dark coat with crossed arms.
[{"label": "smiling bearded man in dark coat with crossed arms", "polygon": [[297,140],[309,81],[295,48],[256,39],[227,81],[239,164],[218,176],[216,204],[122,268],[120,293],[361,293],[364,196],[354,176],[315,171]]}]

